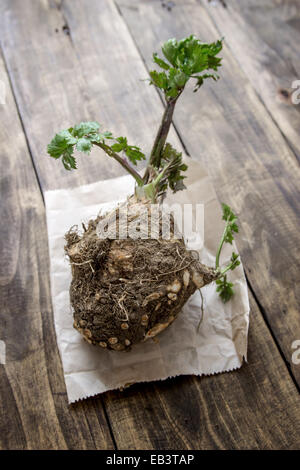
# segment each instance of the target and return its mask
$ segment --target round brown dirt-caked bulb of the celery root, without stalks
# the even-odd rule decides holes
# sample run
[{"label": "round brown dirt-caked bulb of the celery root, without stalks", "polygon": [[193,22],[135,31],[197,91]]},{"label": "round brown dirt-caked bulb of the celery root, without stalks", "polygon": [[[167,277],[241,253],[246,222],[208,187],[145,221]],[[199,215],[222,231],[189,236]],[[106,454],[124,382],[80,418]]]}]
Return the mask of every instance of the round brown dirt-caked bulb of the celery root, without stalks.
[{"label": "round brown dirt-caked bulb of the celery root, without stalks", "polygon": [[173,236],[101,239],[101,219],[90,220],[82,235],[73,228],[65,236],[74,327],[89,343],[129,350],[169,326],[195,290],[216,275]]}]

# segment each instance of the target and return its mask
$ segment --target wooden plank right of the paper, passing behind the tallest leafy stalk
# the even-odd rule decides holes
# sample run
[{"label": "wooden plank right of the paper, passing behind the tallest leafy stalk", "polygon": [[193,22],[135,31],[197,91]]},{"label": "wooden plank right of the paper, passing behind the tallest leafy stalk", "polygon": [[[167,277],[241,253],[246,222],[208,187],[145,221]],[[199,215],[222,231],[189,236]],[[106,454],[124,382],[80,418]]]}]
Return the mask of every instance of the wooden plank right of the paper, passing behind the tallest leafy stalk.
[{"label": "wooden plank right of the paper, passing behind the tallest leafy stalk", "polygon": [[[191,31],[205,40],[220,36],[196,1],[172,11],[158,1],[119,4],[148,67],[152,51],[169,37]],[[174,122],[189,153],[210,173],[219,199],[239,214],[246,274],[300,383],[300,368],[291,363],[291,344],[300,338],[300,169],[228,47],[222,56],[221,80],[185,93]]]}]

